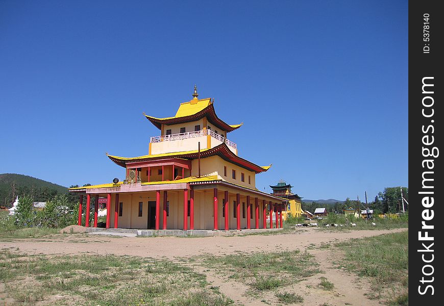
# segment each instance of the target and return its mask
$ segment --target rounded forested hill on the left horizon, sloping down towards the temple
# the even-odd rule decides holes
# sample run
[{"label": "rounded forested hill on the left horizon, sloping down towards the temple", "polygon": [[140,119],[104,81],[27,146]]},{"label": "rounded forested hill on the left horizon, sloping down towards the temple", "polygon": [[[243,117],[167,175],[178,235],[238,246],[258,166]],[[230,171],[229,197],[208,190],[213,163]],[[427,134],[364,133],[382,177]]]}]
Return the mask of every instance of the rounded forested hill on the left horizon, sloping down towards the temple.
[{"label": "rounded forested hill on the left horizon, sloping down towards the temple", "polygon": [[0,174],[0,205],[9,206],[15,196],[32,195],[35,201],[46,201],[56,194],[67,193],[66,187],[35,177],[4,173]]}]

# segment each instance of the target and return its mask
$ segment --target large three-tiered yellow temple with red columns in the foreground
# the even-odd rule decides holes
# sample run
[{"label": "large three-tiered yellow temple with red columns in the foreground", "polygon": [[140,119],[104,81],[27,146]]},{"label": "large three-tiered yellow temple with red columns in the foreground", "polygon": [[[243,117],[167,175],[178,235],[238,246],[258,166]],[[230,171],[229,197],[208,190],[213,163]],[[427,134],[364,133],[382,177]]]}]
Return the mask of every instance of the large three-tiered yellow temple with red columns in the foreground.
[{"label": "large three-tiered yellow temple with red columns in the foreground", "polygon": [[[150,139],[147,155],[121,157],[106,154],[122,167],[123,181],[69,189],[78,193],[82,224],[97,226],[97,205],[106,198],[106,227],[153,230],[243,230],[282,227],[282,197],[256,188],[259,166],[238,155],[228,133],[240,124],[228,124],[215,112],[214,99],[192,99],[179,105],[176,115],[144,117],[158,130]],[[93,221],[89,220],[91,209]],[[278,212],[266,219],[267,211]],[[267,222],[268,221],[268,222]]]}]

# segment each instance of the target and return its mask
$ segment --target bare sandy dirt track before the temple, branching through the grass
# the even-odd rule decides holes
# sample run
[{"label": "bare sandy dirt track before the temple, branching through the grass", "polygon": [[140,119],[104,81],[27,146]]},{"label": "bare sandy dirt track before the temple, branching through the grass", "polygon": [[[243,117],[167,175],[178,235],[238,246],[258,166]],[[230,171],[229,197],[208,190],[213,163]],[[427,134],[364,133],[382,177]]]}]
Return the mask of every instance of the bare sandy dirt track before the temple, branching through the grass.
[{"label": "bare sandy dirt track before the temple, branching through the grass", "polygon": [[[233,237],[206,237],[206,238],[178,238],[178,237],[111,237],[88,234],[70,234],[52,236],[41,239],[17,239],[13,241],[0,241],[0,248],[18,248],[20,252],[28,254],[116,254],[155,259],[170,259],[178,261],[194,256],[221,256],[234,252],[274,252],[280,250],[307,250],[315,256],[316,262],[325,273],[315,274],[306,280],[293,284],[280,291],[296,292],[304,297],[299,305],[317,306],[323,303],[330,305],[377,305],[378,300],[369,300],[365,293],[369,292],[368,281],[356,274],[338,269],[332,263],[340,258],[341,254],[331,249],[312,249],[310,245],[320,245],[348,240],[351,238],[364,238],[386,233],[405,231],[405,228],[393,230],[373,231],[325,231],[319,228],[301,228],[300,230],[278,235],[248,235]],[[183,264],[183,262],[182,262]],[[248,286],[229,279],[215,270],[202,266],[202,263],[188,263],[197,271],[205,273],[207,280],[213,286],[234,301],[244,305],[276,305],[274,293],[266,296],[252,296],[246,294]],[[319,277],[325,276],[335,286],[334,291],[325,291],[318,288]]]}]

